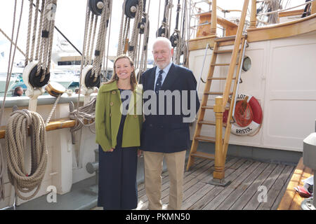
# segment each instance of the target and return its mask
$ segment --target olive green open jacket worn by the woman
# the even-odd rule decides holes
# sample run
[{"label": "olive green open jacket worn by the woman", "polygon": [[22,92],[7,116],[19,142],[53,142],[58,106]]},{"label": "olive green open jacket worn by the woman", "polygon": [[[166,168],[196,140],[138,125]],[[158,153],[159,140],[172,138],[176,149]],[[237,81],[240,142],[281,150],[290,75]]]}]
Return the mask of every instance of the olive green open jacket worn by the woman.
[{"label": "olive green open jacket worn by the woman", "polygon": [[[121,123],[121,95],[117,81],[100,87],[96,101],[96,143],[103,151],[117,146],[117,133]],[[122,147],[140,146],[140,131],[143,124],[142,87],[133,91],[129,111],[123,127]]]}]

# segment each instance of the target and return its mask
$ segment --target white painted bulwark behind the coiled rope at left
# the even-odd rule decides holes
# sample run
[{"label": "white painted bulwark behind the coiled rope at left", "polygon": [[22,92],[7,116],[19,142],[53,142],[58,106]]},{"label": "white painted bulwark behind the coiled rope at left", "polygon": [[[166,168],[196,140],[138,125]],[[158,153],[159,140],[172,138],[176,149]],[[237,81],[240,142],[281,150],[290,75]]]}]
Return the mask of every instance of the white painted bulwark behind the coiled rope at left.
[{"label": "white painted bulwark behind the coiled rope at left", "polygon": [[[77,95],[77,94],[76,94]],[[96,95],[96,94],[93,94]],[[51,96],[41,96],[49,99],[51,102],[44,105],[37,106],[37,113],[41,114],[44,121],[48,117],[48,114],[51,112],[53,107],[53,101],[55,97]],[[40,98],[41,98],[40,97]],[[83,96],[81,96],[81,102],[83,102]],[[28,104],[28,97],[10,97],[6,100],[6,105],[15,104],[18,105],[18,109],[27,109],[25,104]],[[63,94],[60,99],[60,104],[56,107],[55,112],[51,120],[58,118],[67,118],[69,116],[69,104],[68,102],[72,100],[73,102],[77,101],[77,97],[67,97],[67,94]],[[22,106],[21,106],[22,105]],[[76,104],[75,104],[76,106]],[[7,107],[5,109],[4,118],[1,125],[6,125],[7,120],[12,112],[12,107]],[[41,188],[39,193],[34,198],[46,195],[48,193],[48,186],[54,186],[57,190],[58,195],[63,195],[70,192],[73,183],[77,183],[84,179],[87,179],[95,174],[88,174],[86,171],[86,163],[95,161],[94,150],[98,148],[98,145],[95,143],[96,136],[88,127],[83,127],[83,134],[81,139],[82,149],[82,165],[77,165],[77,151],[79,149],[79,132],[76,134],[76,144],[72,144],[70,128],[53,130],[46,132],[46,144],[48,152],[48,161],[44,179],[41,183]],[[14,188],[8,180],[7,165],[6,165],[6,148],[5,148],[5,139],[0,139],[0,144],[2,146],[2,153],[4,155],[4,181],[5,181],[5,200],[0,201],[0,209],[4,207],[9,207],[13,205],[14,202]],[[29,144],[29,137],[28,137]],[[25,157],[25,162],[27,167],[30,170],[30,153],[29,146],[27,147],[27,153]],[[29,171],[28,170],[28,171]],[[34,191],[32,191],[33,193]],[[24,196],[31,195],[31,193]],[[32,199],[34,199],[32,198]],[[16,204],[22,204],[25,201],[18,198]],[[48,203],[48,202],[47,202]],[[58,203],[58,202],[57,202]]]}]

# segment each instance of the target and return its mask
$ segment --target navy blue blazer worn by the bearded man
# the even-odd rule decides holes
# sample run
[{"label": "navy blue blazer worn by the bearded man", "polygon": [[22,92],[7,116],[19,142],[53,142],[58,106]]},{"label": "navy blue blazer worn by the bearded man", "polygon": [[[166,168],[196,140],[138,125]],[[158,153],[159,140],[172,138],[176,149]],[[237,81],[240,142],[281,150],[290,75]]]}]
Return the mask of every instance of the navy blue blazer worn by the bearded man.
[{"label": "navy blue blazer worn by the bearded man", "polygon": [[[145,71],[142,75],[142,84],[144,93],[146,90],[154,90],[154,78],[155,78],[156,67]],[[187,105],[184,104],[185,109],[190,108],[190,90],[195,91],[195,104],[192,105],[193,118],[199,110],[199,98],[197,96],[197,80],[192,71],[184,67],[172,64],[171,68],[162,84],[160,90],[170,90],[171,92],[178,90],[180,92],[180,102],[176,102],[173,97],[172,101],[167,101],[166,96],[163,96],[165,101],[164,105],[160,102],[157,97],[157,115],[154,113],[146,114],[145,111],[145,123],[143,123],[142,133],[141,133],[141,146],[140,148],[143,151],[152,151],[159,153],[176,153],[180,151],[185,151],[190,148],[190,123],[184,123],[183,118],[189,117],[187,111],[182,109],[183,100],[187,99]],[[183,90],[187,90],[183,92]],[[183,95],[186,94],[187,98],[183,98]],[[155,94],[155,96],[157,96]],[[160,96],[162,97],[162,96]],[[144,94],[144,110],[146,106],[148,109],[154,109],[154,104],[150,105],[150,102],[147,102],[151,98],[145,99]],[[169,105],[167,105],[167,103]],[[146,105],[147,104],[147,105]],[[176,111],[176,105],[180,104],[180,113]],[[152,107],[153,106],[153,107]],[[164,113],[159,113],[159,108],[164,106]],[[167,114],[167,106],[172,106],[172,113]],[[178,106],[179,107],[179,106]],[[152,110],[154,111],[154,110]],[[191,116],[191,117],[192,117]],[[194,119],[193,119],[194,120]],[[193,121],[192,120],[192,121]]]}]

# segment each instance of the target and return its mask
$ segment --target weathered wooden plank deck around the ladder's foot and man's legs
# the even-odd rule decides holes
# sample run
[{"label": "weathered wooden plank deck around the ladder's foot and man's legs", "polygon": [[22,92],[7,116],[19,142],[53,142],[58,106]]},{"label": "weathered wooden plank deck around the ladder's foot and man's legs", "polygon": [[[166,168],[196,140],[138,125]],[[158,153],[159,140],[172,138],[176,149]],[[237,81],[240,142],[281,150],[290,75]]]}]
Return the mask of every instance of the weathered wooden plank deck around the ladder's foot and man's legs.
[{"label": "weathered wooden plank deck around the ladder's foot and man's legs", "polygon": [[[195,165],[184,174],[182,209],[228,210],[277,209],[295,167],[257,162],[244,158],[228,158],[225,164],[225,179],[229,186],[213,186],[214,162],[196,159]],[[258,190],[259,189],[259,190]],[[266,202],[264,192],[266,190]],[[162,204],[169,200],[168,172],[162,174]],[[144,183],[138,185],[138,208],[147,209],[148,201]]]}]

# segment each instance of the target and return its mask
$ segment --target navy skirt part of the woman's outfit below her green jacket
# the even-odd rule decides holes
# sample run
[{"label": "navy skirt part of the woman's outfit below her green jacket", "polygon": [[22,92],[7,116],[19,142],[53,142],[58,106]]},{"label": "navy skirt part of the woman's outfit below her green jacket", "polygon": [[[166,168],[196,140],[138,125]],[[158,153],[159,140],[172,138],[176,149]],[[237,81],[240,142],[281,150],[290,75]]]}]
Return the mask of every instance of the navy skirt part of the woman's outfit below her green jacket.
[{"label": "navy skirt part of the woman's outfit below her green jacket", "polygon": [[115,148],[106,153],[99,146],[98,207],[106,210],[136,209],[137,150]]}]

